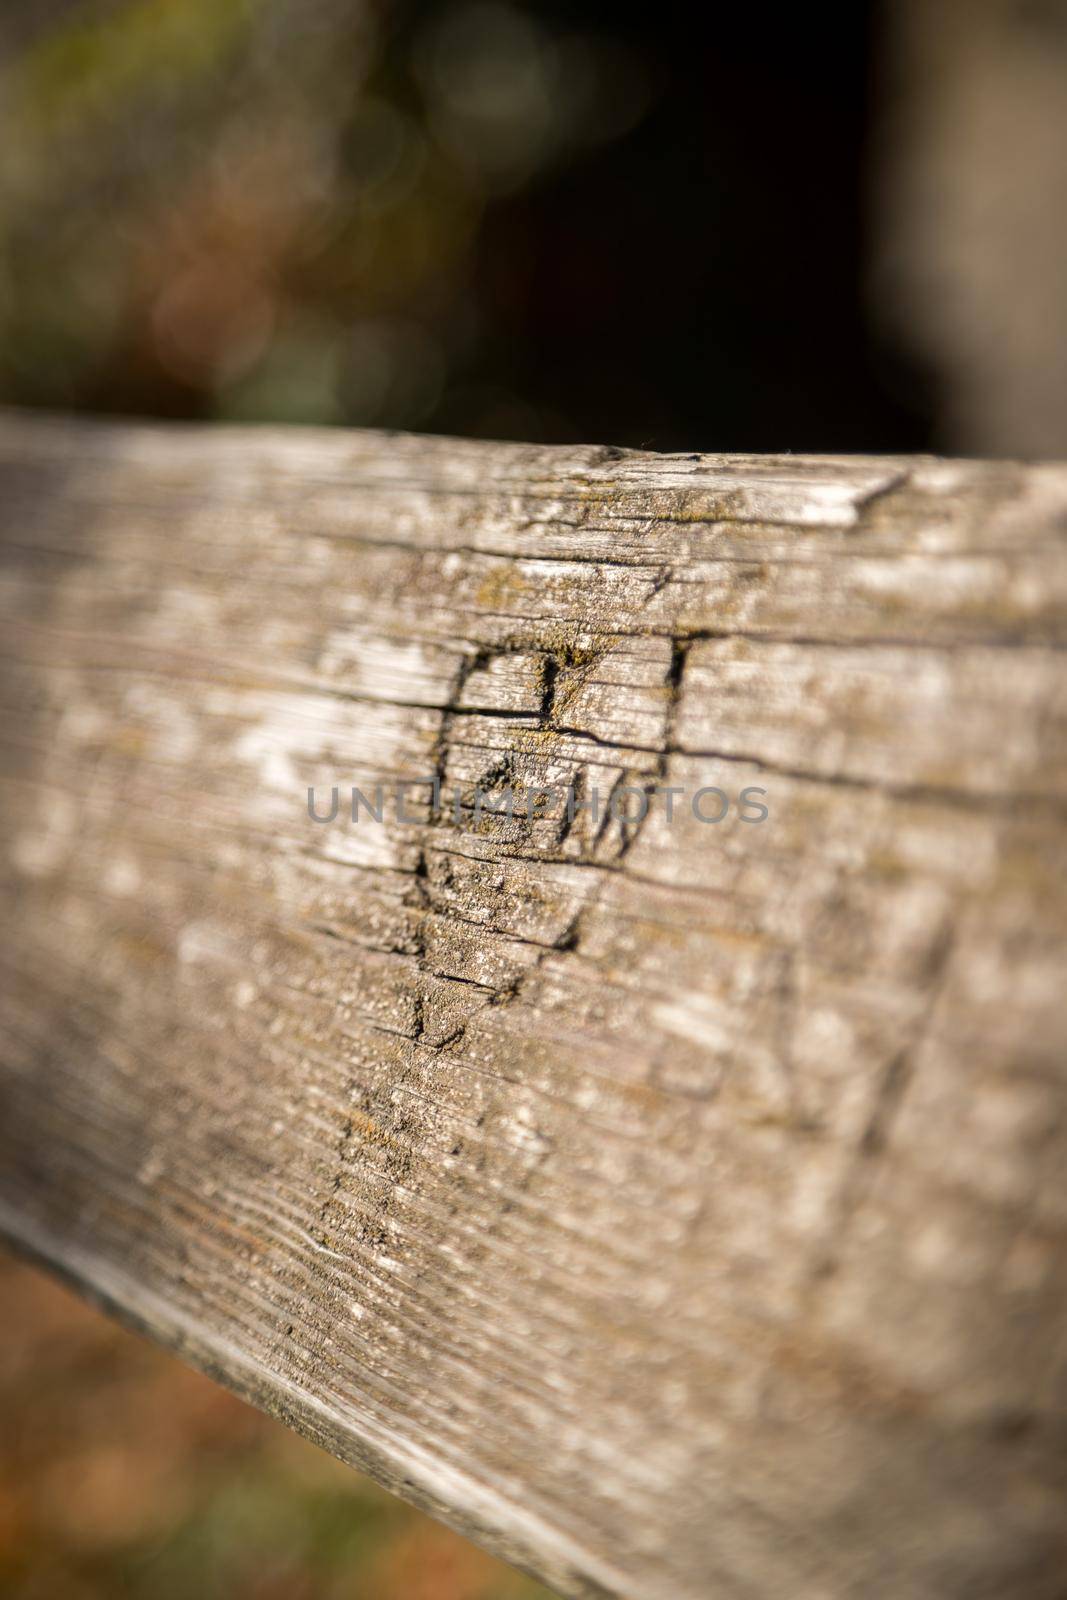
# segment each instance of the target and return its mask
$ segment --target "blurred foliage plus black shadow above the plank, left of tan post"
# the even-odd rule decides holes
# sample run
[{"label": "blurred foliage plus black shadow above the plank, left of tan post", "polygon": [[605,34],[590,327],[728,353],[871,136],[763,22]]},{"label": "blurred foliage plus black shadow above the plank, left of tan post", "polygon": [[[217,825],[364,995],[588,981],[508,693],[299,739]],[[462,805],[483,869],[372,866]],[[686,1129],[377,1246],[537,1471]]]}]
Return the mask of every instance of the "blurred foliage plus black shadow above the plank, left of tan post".
[{"label": "blurred foliage plus black shadow above the plank, left of tan post", "polygon": [[[821,14],[819,14],[821,13]],[[873,8],[6,0],[3,398],[915,448]]]}]

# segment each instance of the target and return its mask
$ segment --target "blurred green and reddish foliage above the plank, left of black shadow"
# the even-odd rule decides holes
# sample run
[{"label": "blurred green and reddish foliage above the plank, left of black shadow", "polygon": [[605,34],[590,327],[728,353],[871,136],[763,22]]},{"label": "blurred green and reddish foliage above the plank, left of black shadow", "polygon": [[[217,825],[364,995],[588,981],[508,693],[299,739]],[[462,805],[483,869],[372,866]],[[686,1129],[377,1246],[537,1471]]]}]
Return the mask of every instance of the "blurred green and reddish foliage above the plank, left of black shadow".
[{"label": "blurred green and reddish foliage above the plank, left of black shadow", "polygon": [[478,227],[649,94],[499,0],[6,0],[0,398],[537,437]]}]

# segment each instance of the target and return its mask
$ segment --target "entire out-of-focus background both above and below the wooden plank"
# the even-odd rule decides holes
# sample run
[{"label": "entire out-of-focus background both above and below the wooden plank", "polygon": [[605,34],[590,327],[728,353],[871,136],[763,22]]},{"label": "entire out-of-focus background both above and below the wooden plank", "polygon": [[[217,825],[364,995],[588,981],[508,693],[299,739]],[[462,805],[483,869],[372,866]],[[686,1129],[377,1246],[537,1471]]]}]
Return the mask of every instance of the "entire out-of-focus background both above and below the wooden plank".
[{"label": "entire out-of-focus background both above and below the wooden plank", "polygon": [[[1067,0],[3,0],[0,403],[1067,458]],[[5,1594],[544,1594],[0,1283]]]}]

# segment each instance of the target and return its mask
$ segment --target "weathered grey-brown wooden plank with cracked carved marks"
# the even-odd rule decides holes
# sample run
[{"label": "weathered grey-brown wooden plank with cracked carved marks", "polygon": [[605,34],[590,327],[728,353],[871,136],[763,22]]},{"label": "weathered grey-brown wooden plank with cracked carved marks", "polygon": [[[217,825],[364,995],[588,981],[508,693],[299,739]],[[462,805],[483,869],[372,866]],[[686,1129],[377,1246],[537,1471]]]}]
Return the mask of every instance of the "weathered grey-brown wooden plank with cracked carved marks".
[{"label": "weathered grey-brown wooden plank with cracked carved marks", "polygon": [[[563,1594],[1061,1597],[1067,469],[0,490],[8,1235]],[[769,816],[307,816],[430,773]]]}]

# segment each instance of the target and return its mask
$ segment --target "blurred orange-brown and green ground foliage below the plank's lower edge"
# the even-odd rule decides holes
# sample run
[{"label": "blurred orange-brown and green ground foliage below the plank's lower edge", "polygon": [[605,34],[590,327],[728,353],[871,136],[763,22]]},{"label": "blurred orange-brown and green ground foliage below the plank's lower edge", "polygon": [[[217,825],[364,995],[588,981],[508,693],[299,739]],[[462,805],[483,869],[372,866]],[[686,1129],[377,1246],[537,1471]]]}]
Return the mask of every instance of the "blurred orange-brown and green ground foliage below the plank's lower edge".
[{"label": "blurred orange-brown and green ground foliage below the plank's lower edge", "polygon": [[0,1256],[6,1600],[547,1600]]}]

